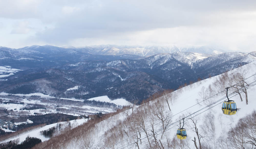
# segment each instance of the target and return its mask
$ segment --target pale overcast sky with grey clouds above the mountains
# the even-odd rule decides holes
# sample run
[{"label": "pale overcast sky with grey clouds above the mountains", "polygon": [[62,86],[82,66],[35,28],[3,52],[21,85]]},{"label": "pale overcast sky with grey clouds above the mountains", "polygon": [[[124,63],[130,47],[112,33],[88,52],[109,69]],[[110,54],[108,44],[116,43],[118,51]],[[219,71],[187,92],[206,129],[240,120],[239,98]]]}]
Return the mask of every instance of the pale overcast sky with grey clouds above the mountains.
[{"label": "pale overcast sky with grey clouds above the mountains", "polygon": [[0,0],[0,46],[45,44],[256,51],[256,1]]}]

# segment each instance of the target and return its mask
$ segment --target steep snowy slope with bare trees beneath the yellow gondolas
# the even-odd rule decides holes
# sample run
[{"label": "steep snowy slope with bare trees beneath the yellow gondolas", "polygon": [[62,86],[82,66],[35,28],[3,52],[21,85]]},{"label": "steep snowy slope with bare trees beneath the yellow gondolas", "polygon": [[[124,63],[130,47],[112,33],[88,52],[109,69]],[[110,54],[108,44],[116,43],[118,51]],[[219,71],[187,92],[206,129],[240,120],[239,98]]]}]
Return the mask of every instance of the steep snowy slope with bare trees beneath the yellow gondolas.
[{"label": "steep snowy slope with bare trees beneath the yellow gondolas", "polygon": [[[252,62],[219,76],[193,83],[100,121],[84,131],[79,130],[81,128],[74,129],[69,132],[65,141],[58,139],[60,142],[55,143],[54,147],[61,148],[62,143],[64,148],[192,149],[196,148],[192,141],[195,140],[199,148],[197,134],[194,132],[196,124],[202,148],[225,148],[222,146],[223,143],[229,143],[226,135],[228,131],[237,125],[240,118],[256,109],[255,74],[256,62]],[[237,85],[241,80],[248,84],[245,85],[246,88],[241,88],[243,90],[238,90],[243,101],[238,93],[234,92],[234,87],[228,92],[230,100],[237,104],[236,115],[222,114],[222,102],[226,100],[225,87]],[[244,89],[248,93],[248,104],[245,101]],[[176,137],[176,131],[182,118],[185,118],[187,139],[180,141]],[[50,139],[40,146],[45,147],[44,145],[53,143],[55,139],[57,138]],[[249,147],[246,143],[242,145]]]}]

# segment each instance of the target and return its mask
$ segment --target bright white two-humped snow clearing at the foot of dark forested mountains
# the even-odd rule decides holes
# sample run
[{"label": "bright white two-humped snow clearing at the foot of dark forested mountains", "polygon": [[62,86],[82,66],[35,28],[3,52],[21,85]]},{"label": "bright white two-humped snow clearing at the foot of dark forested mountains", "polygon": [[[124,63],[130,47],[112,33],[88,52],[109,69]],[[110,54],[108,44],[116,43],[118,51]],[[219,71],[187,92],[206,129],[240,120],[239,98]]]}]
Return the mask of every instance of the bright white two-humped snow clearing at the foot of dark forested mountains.
[{"label": "bright white two-humped snow clearing at the foot of dark forested mountains", "polygon": [[94,101],[100,101],[100,102],[108,102],[108,103],[113,103],[113,104],[120,105],[120,106],[132,105],[130,102],[126,101],[123,98],[111,100],[108,96],[93,97],[93,98],[90,98],[88,100],[90,100],[90,101],[94,100]]}]

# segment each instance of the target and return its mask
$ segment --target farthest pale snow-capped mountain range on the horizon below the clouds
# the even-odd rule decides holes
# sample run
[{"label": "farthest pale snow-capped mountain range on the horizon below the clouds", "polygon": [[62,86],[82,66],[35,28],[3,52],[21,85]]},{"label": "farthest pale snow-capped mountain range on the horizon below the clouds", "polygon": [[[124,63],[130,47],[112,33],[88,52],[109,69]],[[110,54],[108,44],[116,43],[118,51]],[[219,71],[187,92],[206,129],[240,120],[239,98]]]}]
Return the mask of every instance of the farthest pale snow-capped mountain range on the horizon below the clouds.
[{"label": "farthest pale snow-capped mountain range on the horizon below the clouds", "polygon": [[138,56],[152,56],[160,53],[174,53],[174,52],[194,52],[203,53],[208,55],[217,55],[224,52],[225,50],[211,47],[211,46],[182,46],[178,47],[172,46],[127,46],[127,45],[94,45],[85,47],[65,47],[73,48],[77,51],[90,54],[100,54],[100,55],[123,55],[131,54]]}]

